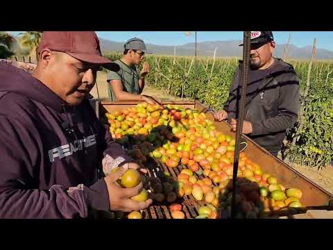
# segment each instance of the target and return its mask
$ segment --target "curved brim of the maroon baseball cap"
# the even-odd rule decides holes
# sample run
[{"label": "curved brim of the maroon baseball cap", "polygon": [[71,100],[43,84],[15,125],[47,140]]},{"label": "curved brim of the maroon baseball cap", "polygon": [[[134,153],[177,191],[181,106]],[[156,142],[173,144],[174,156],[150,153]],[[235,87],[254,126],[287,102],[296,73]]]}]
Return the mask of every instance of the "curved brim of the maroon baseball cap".
[{"label": "curved brim of the maroon baseball cap", "polygon": [[117,65],[117,63],[113,63],[112,60],[109,60],[108,58],[103,58],[103,56],[99,56],[96,54],[86,54],[86,53],[71,53],[66,52],[69,54],[69,56],[73,56],[74,58],[78,60],[82,60],[86,63],[93,63],[96,65],[101,65],[102,67],[105,67],[105,69],[109,69],[111,71],[117,72],[119,71],[120,67]]}]

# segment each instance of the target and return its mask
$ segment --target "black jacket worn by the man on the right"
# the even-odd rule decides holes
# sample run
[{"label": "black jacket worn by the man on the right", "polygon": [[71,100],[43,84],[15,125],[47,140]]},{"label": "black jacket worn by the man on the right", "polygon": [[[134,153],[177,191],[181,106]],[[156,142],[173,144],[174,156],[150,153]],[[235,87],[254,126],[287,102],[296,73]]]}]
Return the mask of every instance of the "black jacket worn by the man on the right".
[{"label": "black jacket worn by the man on the right", "polygon": [[[286,129],[295,124],[300,110],[300,85],[292,65],[275,58],[273,72],[259,84],[253,98],[246,103],[244,119],[252,123],[248,134],[257,144],[271,153],[280,151]],[[241,98],[242,61],[234,72],[232,86],[224,109],[229,121],[237,119]]]}]

